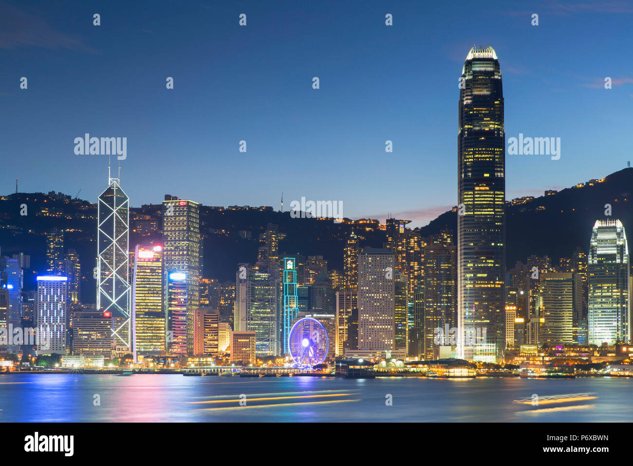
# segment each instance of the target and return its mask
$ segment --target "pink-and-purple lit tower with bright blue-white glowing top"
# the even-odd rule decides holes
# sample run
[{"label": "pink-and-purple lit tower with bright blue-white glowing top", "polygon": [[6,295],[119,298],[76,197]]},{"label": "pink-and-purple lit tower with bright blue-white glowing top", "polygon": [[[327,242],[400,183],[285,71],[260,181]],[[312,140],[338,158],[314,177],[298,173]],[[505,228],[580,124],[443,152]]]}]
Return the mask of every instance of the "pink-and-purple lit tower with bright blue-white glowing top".
[{"label": "pink-and-purple lit tower with bright blue-white glowing top", "polygon": [[182,271],[167,273],[167,355],[187,355],[187,316],[189,311],[189,280]]}]

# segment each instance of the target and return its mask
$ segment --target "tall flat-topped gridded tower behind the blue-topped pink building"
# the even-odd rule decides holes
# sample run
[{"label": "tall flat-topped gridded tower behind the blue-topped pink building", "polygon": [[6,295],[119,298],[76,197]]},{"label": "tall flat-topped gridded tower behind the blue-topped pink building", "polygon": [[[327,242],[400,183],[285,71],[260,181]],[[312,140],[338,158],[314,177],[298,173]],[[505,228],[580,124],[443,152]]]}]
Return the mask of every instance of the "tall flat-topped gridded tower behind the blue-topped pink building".
[{"label": "tall flat-topped gridded tower behind the blue-topped pink building", "polygon": [[200,204],[170,195],[163,201],[163,264],[187,275],[187,354],[193,354],[194,311],[200,306],[202,275]]}]

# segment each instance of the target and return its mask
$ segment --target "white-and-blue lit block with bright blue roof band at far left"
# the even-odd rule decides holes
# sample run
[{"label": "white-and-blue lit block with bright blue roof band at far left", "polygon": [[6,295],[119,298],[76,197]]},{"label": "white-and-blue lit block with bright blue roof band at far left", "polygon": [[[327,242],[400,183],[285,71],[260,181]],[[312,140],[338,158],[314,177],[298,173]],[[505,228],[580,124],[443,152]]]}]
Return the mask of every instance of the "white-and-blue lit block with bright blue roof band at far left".
[{"label": "white-and-blue lit block with bright blue roof band at far left", "polygon": [[66,354],[65,276],[37,277],[37,354]]}]

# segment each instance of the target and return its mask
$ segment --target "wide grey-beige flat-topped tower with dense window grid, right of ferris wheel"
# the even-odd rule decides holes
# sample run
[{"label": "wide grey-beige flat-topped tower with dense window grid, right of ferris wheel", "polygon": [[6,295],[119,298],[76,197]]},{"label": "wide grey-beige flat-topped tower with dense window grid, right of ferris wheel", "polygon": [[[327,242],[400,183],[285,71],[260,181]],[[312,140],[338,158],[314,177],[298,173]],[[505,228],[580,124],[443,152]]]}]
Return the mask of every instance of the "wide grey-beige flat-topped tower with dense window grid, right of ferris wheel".
[{"label": "wide grey-beige flat-topped tower with dense window grid, right of ferris wheel", "polygon": [[358,349],[394,349],[394,254],[363,249],[358,256]]}]

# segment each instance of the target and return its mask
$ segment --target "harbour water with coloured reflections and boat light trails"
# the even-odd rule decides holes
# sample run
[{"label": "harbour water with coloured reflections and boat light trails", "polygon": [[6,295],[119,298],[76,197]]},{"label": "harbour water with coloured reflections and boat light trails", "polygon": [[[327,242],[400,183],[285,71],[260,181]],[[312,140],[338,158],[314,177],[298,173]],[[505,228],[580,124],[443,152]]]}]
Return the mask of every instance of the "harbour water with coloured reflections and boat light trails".
[{"label": "harbour water with coloured reflections and boat light trails", "polygon": [[[578,393],[592,393],[597,398],[566,406],[513,403],[517,399],[531,399],[532,394],[545,397]],[[385,404],[388,395],[391,406]],[[241,399],[246,399],[246,406],[240,406]],[[0,376],[0,422],[632,420],[633,379]]]}]

